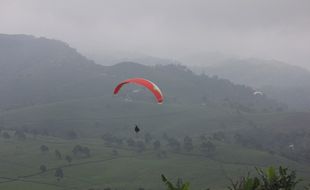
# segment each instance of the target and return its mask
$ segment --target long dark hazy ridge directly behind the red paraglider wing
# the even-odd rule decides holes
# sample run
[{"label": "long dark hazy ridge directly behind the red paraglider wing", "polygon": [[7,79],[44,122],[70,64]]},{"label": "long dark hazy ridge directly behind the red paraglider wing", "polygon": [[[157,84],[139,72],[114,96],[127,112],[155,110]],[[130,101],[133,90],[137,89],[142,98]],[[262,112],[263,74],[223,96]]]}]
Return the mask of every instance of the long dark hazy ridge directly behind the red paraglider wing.
[{"label": "long dark hazy ridge directly behind the red paraglider wing", "polygon": [[[132,62],[102,66],[61,41],[0,35],[1,109],[112,96],[114,86],[129,77],[145,77],[158,83],[166,103],[223,104],[241,111],[283,110],[282,105],[266,96],[253,95],[249,87],[199,76],[185,66]],[[121,96],[132,100],[152,98],[141,88],[141,93],[133,89],[137,87],[129,86]]]}]

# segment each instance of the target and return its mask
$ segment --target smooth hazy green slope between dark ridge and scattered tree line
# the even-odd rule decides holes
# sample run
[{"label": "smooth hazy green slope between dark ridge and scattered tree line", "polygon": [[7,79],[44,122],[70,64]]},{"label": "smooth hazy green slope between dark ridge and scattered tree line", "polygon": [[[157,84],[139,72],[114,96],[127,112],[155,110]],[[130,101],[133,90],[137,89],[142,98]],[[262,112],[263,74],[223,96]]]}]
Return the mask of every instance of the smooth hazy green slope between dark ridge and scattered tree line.
[{"label": "smooth hazy green slope between dark ridge and scattered tree line", "polygon": [[107,131],[127,135],[134,124],[154,135],[198,136],[253,127],[251,122],[258,127],[291,131],[307,129],[310,117],[309,113],[298,112],[238,113],[218,105],[125,102],[117,97],[77,99],[0,112],[2,127],[73,129],[84,137],[101,136]]}]

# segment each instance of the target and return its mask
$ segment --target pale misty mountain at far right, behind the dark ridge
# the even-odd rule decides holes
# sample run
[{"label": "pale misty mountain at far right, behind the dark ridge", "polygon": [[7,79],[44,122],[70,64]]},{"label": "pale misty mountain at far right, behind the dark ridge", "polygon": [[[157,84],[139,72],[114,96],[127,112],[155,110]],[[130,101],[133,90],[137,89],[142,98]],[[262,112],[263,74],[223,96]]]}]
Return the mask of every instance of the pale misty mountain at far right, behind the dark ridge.
[{"label": "pale misty mountain at far right, behind the dark ridge", "polygon": [[310,72],[304,68],[260,59],[234,59],[191,68],[262,90],[293,109],[310,110]]}]

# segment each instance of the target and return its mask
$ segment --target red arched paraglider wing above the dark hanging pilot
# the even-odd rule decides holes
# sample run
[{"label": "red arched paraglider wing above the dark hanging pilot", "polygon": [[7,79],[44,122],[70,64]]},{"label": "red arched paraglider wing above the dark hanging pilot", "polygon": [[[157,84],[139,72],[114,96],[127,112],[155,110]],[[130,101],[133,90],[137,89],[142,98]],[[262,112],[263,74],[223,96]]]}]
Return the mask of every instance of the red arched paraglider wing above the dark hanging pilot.
[{"label": "red arched paraglider wing above the dark hanging pilot", "polygon": [[127,79],[127,80],[122,81],[121,83],[119,83],[115,87],[114,94],[117,94],[120,91],[120,89],[122,88],[122,86],[125,84],[128,84],[128,83],[134,83],[134,84],[138,84],[138,85],[146,87],[147,89],[149,89],[154,94],[158,103],[163,102],[164,96],[163,96],[161,90],[158,88],[158,86],[156,84],[154,84],[153,82],[146,80],[144,78],[131,78],[131,79]]}]

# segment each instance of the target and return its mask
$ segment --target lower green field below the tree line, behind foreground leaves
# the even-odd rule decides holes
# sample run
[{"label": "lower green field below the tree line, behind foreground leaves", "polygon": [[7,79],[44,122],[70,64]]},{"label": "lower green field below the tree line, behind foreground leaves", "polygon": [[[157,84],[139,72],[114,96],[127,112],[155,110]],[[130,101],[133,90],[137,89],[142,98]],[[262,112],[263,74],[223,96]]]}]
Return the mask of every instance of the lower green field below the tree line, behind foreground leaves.
[{"label": "lower green field below the tree line, behind foreground leaves", "polygon": [[[39,147],[45,144],[50,153],[41,153]],[[54,150],[71,154],[75,144],[88,146],[92,157],[74,159],[71,165],[57,160]],[[152,150],[142,154],[128,149],[118,149],[119,156],[112,156],[112,148],[105,147],[100,139],[79,139],[66,141],[51,137],[18,140],[1,139],[1,177],[16,178],[18,181],[2,183],[0,189],[87,189],[90,187],[118,187],[123,189],[163,189],[160,174],[164,173],[191,181],[193,189],[212,187],[224,188],[228,185],[225,176],[233,177],[246,174],[254,166],[285,164],[297,169],[298,174],[310,178],[310,168],[265,152],[245,149],[228,144],[218,144],[214,158],[205,158],[198,153],[168,153],[168,158],[158,159]],[[44,174],[38,174],[40,164],[47,165]],[[54,168],[62,167],[65,178],[56,182]],[[33,176],[27,177],[29,174]],[[198,177],[199,176],[199,177]],[[23,181],[21,181],[23,180]],[[38,184],[40,183],[40,184]],[[44,183],[44,184],[41,184]],[[126,187],[126,188],[125,188]]]}]

